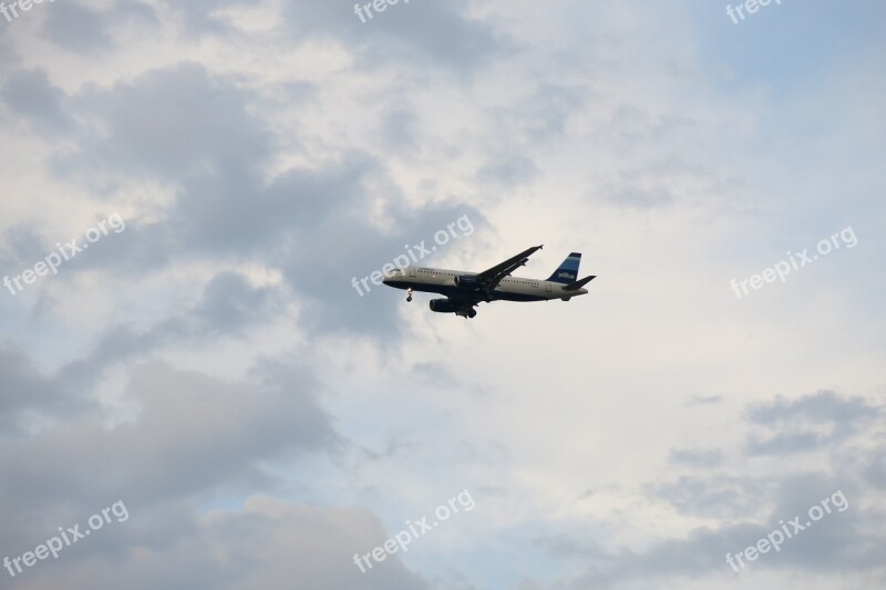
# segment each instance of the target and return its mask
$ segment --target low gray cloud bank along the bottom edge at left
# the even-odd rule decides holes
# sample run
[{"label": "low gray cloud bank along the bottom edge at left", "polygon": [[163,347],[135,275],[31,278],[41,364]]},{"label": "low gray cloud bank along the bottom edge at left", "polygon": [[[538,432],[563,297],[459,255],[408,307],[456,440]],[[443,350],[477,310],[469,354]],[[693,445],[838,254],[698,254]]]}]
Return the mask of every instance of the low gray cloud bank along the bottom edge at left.
[{"label": "low gray cloud bank along the bottom edge at left", "polygon": [[[127,503],[130,519],[106,525],[16,579],[17,588],[361,588],[413,590],[430,584],[400,556],[361,573],[353,555],[387,535],[361,509],[327,508],[253,497],[243,510],[197,515]],[[85,513],[89,515],[90,513]],[[66,521],[65,521],[66,522]],[[51,532],[51,530],[50,530]],[[62,567],[63,565],[63,567]],[[383,566],[383,567],[381,567]]]}]

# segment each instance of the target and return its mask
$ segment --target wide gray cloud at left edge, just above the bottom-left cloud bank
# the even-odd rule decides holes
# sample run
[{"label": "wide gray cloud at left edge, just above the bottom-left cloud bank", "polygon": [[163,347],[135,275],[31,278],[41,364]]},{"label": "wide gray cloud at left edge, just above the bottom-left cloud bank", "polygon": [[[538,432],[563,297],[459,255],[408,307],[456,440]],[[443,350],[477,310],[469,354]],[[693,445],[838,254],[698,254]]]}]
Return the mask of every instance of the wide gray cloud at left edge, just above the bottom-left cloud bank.
[{"label": "wide gray cloud at left edge, just above the bottom-left cloud bank", "polygon": [[[142,366],[128,393],[141,407],[135,422],[109,428],[97,416],[84,417],[7,447],[3,472],[14,487],[3,489],[6,505],[39,510],[41,498],[19,495],[28,489],[42,489],[42,501],[103,494],[157,501],[222,483],[249,487],[267,480],[260,459],[332,449],[337,436],[317,404],[312,375],[298,366],[285,375],[256,386],[163,364]],[[224,460],[206,460],[215,456]],[[32,465],[42,465],[41,472]]]}]

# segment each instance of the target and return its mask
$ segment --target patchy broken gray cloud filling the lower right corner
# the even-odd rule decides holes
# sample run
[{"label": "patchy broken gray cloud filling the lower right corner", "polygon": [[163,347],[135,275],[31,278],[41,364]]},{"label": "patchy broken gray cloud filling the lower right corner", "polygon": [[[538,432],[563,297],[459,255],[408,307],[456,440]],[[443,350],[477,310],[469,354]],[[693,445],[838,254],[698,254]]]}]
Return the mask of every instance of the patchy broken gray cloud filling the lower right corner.
[{"label": "patchy broken gray cloud filling the lower right corner", "polygon": [[[727,470],[746,464],[751,456],[761,452],[753,446],[748,449],[748,456],[732,458],[729,463],[721,460],[720,452],[714,449],[672,452],[671,460],[680,466],[692,467],[693,475],[649,484],[646,493],[655,499],[668,501],[682,515],[714,518],[721,524],[693,528],[688,536],[666,538],[645,550],[602,548],[591,544],[591,547],[597,547],[598,555],[586,558],[585,575],[566,586],[622,588],[626,583],[632,583],[637,588],[652,588],[660,586],[662,580],[674,580],[682,576],[699,580],[732,573],[725,562],[727,552],[733,556],[741,552],[796,516],[801,518],[800,524],[806,526],[805,522],[811,520],[810,508],[821,506],[824,498],[832,498],[838,491],[843,493],[848,508],[838,511],[837,503],[831,501],[831,514],[825,514],[806,530],[790,538],[781,551],[761,556],[752,563],[752,569],[815,570],[838,577],[847,563],[852,563],[861,579],[874,583],[882,576],[879,556],[886,541],[878,532],[883,515],[875,508],[866,507],[864,500],[875,497],[876,493],[864,485],[864,479],[849,465],[837,465],[833,472],[828,470],[828,466],[832,452],[846,444],[847,438],[854,441],[852,437],[864,434],[847,425],[880,417],[882,407],[870,405],[862,397],[823,391],[790,401],[779,398],[751,405],[745,416],[749,428],[759,424],[782,427],[803,417],[843,425],[838,429],[844,435],[816,441],[816,445],[780,438],[785,447],[776,448],[773,443],[765,449],[767,454],[797,451],[818,453],[822,470],[808,472],[802,464],[793,468],[785,464],[782,473],[774,477],[743,469],[740,475],[732,475]],[[856,447],[853,452],[854,455],[859,453],[863,454],[862,463],[870,465],[867,479],[877,485],[875,465],[882,455],[882,447],[865,452]],[[761,509],[766,511],[762,520],[755,516]],[[793,528],[789,527],[789,530]],[[587,550],[586,545],[586,541],[574,536],[553,537],[546,542],[549,550],[563,555],[575,552],[569,547]]]}]

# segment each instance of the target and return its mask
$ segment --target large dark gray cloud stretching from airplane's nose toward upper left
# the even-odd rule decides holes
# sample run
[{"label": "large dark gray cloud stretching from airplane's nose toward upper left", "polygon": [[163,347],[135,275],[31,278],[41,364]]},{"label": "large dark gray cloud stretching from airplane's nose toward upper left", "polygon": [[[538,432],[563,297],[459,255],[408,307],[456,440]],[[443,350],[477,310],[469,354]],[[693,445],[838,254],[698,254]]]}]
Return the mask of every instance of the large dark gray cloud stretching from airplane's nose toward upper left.
[{"label": "large dark gray cloud stretching from airplane's nose toward upper left", "polygon": [[[395,299],[377,292],[361,298],[351,279],[403,253],[404,242],[431,240],[462,215],[475,227],[482,227],[483,216],[465,205],[418,210],[391,186],[387,217],[394,234],[385,235],[369,222],[377,195],[368,183],[390,182],[375,158],[360,153],[346,153],[327,165],[290,168],[266,183],[259,172],[275,139],[248,113],[250,100],[233,81],[190,63],[78,96],[71,108],[90,113],[94,126],[106,130],[85,138],[89,149],[79,165],[146,178],[159,175],[178,184],[179,190],[161,220],[127,219],[126,230],[113,236],[113,248],[103,244],[89,257],[73,259],[65,275],[73,277],[81,269],[138,275],[173,259],[236,256],[280,269],[302,296],[302,319],[312,331],[322,325],[369,334],[382,328],[399,332]],[[59,173],[74,164],[76,158],[61,165]],[[33,230],[22,228],[19,235],[27,231]],[[7,255],[10,266],[42,256],[37,252],[45,246],[34,246],[38,241],[54,240],[32,236],[30,248],[18,246]],[[291,247],[296,241],[299,247]],[[322,281],[313,278],[318,268],[323,269]]]}]

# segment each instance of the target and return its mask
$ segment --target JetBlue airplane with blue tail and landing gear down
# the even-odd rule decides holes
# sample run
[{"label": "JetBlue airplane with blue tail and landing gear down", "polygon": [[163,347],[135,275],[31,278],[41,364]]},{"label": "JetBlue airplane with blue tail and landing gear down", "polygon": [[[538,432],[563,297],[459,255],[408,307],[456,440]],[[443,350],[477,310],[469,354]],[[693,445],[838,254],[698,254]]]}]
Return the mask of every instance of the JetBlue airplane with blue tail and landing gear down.
[{"label": "JetBlue airplane with blue tail and landing gear down", "polygon": [[511,277],[511,273],[529,261],[543,246],[533,246],[483,272],[465,272],[441,268],[409,266],[395,268],[384,275],[382,282],[394,289],[406,290],[406,301],[414,291],[440,293],[444,299],[432,299],[431,311],[455,313],[464,319],[474,318],[478,303],[492,301],[569,301],[588,292],[584,289],[596,276],[578,277],[581,255],[573,252],[547,280]]}]

